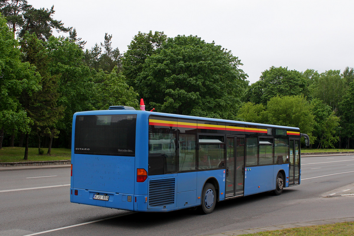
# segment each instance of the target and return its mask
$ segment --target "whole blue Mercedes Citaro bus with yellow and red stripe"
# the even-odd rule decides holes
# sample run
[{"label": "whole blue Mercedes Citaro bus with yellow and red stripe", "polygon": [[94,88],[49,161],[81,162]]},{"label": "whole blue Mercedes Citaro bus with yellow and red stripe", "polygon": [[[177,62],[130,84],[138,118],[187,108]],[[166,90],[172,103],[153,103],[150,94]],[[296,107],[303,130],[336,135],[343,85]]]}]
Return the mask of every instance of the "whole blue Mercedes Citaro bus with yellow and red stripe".
[{"label": "whole blue Mercedes Citaro bus with yellow and red stripe", "polygon": [[73,116],[70,201],[139,212],[300,184],[299,128],[114,106]]}]

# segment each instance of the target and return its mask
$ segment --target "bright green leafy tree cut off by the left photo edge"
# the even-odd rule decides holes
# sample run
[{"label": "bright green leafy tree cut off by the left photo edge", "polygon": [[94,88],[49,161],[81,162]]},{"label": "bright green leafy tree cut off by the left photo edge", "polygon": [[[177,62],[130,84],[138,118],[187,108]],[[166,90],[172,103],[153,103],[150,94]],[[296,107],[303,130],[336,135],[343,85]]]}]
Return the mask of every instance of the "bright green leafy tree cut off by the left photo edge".
[{"label": "bright green leafy tree cut off by the left photo edge", "polygon": [[0,16],[0,148],[4,133],[29,132],[31,120],[19,103],[23,90],[30,94],[38,91],[40,75],[29,63],[22,63],[18,41]]}]

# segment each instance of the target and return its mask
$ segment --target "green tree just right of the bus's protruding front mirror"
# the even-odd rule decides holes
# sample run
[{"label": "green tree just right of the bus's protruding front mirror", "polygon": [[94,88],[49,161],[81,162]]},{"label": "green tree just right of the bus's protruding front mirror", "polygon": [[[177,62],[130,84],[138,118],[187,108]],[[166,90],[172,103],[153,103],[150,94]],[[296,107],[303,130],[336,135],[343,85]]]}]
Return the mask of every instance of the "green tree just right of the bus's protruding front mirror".
[{"label": "green tree just right of the bus's protruding front mirror", "polygon": [[329,105],[324,104],[320,99],[314,98],[311,101],[312,111],[314,114],[314,131],[313,136],[318,143],[317,148],[332,147],[337,142],[336,127],[339,126],[339,117],[331,110]]}]

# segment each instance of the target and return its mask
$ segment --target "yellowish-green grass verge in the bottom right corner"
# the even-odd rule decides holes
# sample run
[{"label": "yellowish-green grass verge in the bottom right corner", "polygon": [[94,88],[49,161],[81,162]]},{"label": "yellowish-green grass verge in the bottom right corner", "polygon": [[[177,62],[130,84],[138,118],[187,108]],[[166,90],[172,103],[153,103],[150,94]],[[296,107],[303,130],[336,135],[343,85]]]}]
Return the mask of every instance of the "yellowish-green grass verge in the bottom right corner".
[{"label": "yellowish-green grass verge in the bottom right corner", "polygon": [[243,236],[352,236],[354,235],[354,222],[344,222],[328,225],[316,225],[302,228],[292,228],[259,232],[255,234],[242,234]]}]

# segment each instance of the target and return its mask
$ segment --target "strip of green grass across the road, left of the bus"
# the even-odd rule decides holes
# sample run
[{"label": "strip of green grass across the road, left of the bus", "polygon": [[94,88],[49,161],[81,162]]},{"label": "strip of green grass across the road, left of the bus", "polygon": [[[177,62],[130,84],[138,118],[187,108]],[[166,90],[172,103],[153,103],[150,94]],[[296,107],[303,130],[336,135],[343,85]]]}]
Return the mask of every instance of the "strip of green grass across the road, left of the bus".
[{"label": "strip of green grass across the road, left of the bus", "polygon": [[[44,155],[38,155],[38,148],[28,148],[27,161],[57,161],[57,160],[71,160],[71,149],[66,148],[52,148],[50,156],[46,155],[48,149],[42,148]],[[25,161],[24,148],[10,148],[4,147],[0,149],[0,162],[18,162]]]}]

